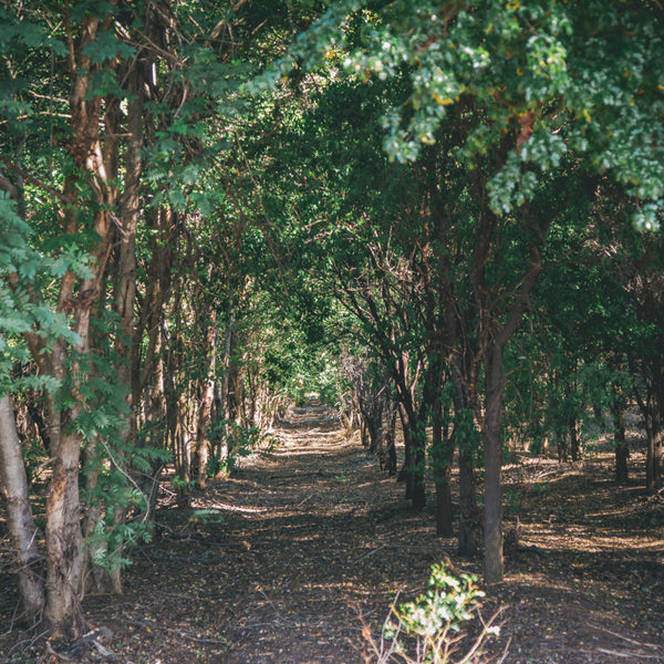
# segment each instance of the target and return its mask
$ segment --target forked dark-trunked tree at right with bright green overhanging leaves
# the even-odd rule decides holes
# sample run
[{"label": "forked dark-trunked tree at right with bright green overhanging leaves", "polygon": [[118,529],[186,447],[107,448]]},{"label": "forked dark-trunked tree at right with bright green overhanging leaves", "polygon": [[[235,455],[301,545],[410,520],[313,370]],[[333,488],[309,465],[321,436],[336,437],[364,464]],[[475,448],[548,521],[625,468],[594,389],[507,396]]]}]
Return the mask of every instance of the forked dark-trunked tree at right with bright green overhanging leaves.
[{"label": "forked dark-trunked tree at right with bright green overhanging leaves", "polygon": [[[540,214],[532,200],[538,195],[541,199],[547,184],[569,178],[573,162],[563,157],[573,153],[574,170],[609,173],[637,201],[635,222],[656,226],[662,124],[652,121],[661,116],[661,103],[647,63],[662,54],[657,20],[647,7],[625,10],[618,2],[591,3],[582,10],[492,0],[473,8],[338,2],[263,79],[270,83],[295,60],[317,66],[330,54],[352,79],[404,81],[405,102],[383,112],[385,149],[404,162],[419,158],[423,146],[439,139],[450,108],[461,106],[471,114],[474,122],[457,154],[474,173],[479,205],[471,276],[485,380],[489,582],[502,577],[504,352],[541,272],[547,228],[564,206],[549,198],[547,211]],[[495,238],[505,220],[520,226],[527,258],[508,305],[496,312],[496,302],[505,297],[492,291],[490,263],[500,257]]]}]

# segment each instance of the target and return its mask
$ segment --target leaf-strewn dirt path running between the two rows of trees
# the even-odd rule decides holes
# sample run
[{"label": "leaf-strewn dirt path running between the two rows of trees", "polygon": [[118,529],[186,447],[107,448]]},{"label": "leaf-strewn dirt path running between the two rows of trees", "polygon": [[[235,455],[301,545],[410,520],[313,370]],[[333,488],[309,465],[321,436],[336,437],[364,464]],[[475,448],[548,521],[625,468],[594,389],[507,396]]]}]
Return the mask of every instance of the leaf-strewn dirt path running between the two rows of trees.
[{"label": "leaf-strewn dirt path running between the two rows of trees", "polygon": [[159,515],[162,537],[134,556],[116,613],[143,652],[152,642],[134,664],[363,662],[360,615],[375,627],[395,592],[424,589],[443,544],[403,485],[320,405],[276,436],[193,510]]}]

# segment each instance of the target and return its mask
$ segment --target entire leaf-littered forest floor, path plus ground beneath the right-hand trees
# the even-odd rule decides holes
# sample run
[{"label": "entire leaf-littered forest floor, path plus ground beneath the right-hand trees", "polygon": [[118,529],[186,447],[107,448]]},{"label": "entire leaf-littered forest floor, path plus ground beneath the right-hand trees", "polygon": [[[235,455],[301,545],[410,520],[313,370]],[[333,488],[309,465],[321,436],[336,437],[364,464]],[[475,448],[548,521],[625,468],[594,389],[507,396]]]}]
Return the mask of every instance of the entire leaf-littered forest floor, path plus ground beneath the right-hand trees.
[{"label": "entire leaf-littered forest floor, path plus ground beneath the right-hand trees", "polygon": [[[91,629],[112,632],[113,661],[375,662],[363,626],[376,637],[395,598],[426,589],[432,563],[448,556],[481,575],[479,559],[457,558],[455,540],[435,536],[433,508],[414,511],[324,408],[292,409],[276,435],[278,447],[210,481],[191,509],[159,510],[159,537],[133,552],[122,596],[85,599]],[[483,608],[488,618],[505,606],[490,645],[499,654],[510,640],[505,664],[664,663],[664,500],[642,477],[615,486],[611,464],[595,452],[578,464],[519,455],[506,467],[519,546]],[[634,454],[632,467],[642,465]],[[6,543],[0,661],[104,661],[93,649],[58,657],[59,644],[10,630]]]}]

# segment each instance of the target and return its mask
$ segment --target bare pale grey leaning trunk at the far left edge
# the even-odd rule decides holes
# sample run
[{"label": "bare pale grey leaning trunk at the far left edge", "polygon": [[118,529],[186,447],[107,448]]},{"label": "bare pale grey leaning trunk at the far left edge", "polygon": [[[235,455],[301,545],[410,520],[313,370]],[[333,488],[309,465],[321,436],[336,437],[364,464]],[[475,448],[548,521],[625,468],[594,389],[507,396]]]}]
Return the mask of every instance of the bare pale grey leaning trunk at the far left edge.
[{"label": "bare pale grey leaning trunk at the far left edge", "polygon": [[28,477],[9,394],[0,397],[0,485],[7,500],[9,533],[18,562],[21,600],[29,622],[38,623],[45,601],[42,559],[37,547]]}]

